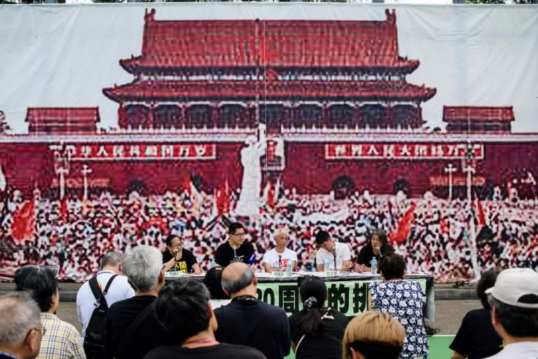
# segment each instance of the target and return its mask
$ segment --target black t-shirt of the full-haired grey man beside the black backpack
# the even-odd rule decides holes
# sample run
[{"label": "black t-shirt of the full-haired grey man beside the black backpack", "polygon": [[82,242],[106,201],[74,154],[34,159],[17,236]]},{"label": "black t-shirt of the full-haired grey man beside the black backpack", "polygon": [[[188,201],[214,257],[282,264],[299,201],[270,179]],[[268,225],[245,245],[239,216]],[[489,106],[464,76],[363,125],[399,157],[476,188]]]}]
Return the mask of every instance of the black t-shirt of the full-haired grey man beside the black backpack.
[{"label": "black t-shirt of the full-haired grey man beside the black backpack", "polygon": [[[151,349],[158,346],[172,345],[172,337],[160,325],[153,310],[132,331],[129,338],[123,339],[130,323],[142,313],[146,306],[153,306],[157,297],[142,295],[116,302],[110,306],[106,320],[106,356],[118,359],[144,358]],[[128,334],[128,333],[127,333]]]}]

